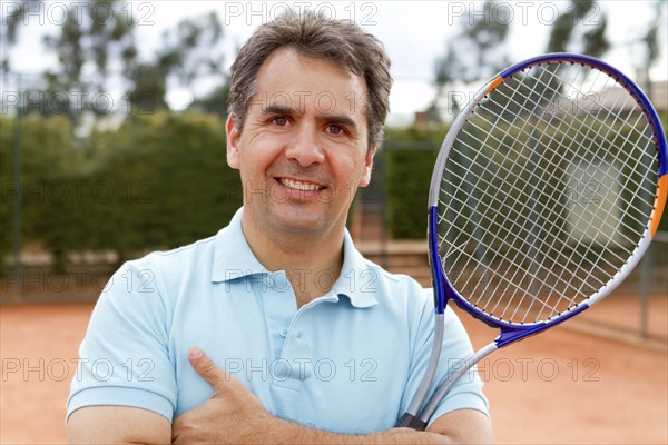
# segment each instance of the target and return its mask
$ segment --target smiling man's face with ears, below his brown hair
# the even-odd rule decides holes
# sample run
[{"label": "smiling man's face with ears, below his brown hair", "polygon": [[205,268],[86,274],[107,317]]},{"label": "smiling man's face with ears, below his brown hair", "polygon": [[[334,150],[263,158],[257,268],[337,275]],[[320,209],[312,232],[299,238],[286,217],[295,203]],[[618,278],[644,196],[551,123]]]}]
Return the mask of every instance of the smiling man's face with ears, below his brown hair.
[{"label": "smiling man's face with ears, below his brown hair", "polygon": [[257,75],[243,131],[227,121],[227,162],[240,171],[244,219],[273,234],[341,230],[355,191],[369,184],[363,78],[292,49]]}]

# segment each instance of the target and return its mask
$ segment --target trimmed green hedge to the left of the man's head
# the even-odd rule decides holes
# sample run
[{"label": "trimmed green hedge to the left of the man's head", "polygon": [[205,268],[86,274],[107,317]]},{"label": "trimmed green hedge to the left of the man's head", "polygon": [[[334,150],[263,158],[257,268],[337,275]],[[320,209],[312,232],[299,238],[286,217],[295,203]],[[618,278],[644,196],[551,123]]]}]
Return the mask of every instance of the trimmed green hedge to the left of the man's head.
[{"label": "trimmed green hedge to the left of the man's head", "polygon": [[[11,246],[16,121],[0,123],[1,240]],[[122,260],[215,234],[242,202],[223,129],[215,116],[155,113],[81,141],[66,119],[23,118],[23,244],[43,243],[61,267],[71,251]]]}]

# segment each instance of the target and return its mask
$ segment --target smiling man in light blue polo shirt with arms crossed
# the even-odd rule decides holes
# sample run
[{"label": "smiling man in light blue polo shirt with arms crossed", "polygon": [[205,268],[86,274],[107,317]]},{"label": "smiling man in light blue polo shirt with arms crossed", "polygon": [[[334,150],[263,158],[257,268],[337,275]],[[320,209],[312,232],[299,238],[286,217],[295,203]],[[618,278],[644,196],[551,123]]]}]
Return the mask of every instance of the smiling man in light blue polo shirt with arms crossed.
[{"label": "smiling man in light blue polo shirt with arms crossed", "polygon": [[[433,308],[345,230],[382,139],[389,67],[375,38],[313,13],[249,39],[226,125],[243,209],[112,277],[81,345],[70,442],[492,442],[473,373],[426,432],[393,428],[424,374]],[[471,349],[450,312],[445,335],[442,368]]]}]

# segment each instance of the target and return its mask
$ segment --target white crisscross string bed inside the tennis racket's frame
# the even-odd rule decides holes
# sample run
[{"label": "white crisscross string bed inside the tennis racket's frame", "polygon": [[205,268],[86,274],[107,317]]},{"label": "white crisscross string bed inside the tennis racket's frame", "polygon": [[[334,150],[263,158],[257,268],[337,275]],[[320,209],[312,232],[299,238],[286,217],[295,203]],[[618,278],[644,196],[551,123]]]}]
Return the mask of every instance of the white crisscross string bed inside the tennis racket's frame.
[{"label": "white crisscross string bed inside the tennis racket's frame", "polygon": [[[588,80],[592,70],[586,67],[566,81],[559,80],[561,66],[534,70],[507,79],[470,116],[440,197],[446,275],[485,313],[520,323],[559,315],[610,279],[647,222],[647,209],[629,205],[639,200],[629,190],[654,187],[647,167],[655,158],[644,149],[651,129],[640,113],[625,116],[635,99],[622,93],[587,110],[577,102],[587,97],[577,85],[606,91],[615,79],[597,72]],[[599,149],[611,139],[630,152]],[[588,197],[586,206],[569,208],[563,191],[571,182],[588,184],[592,172],[611,189],[599,192],[598,202]],[[618,235],[600,241],[601,234]]]}]

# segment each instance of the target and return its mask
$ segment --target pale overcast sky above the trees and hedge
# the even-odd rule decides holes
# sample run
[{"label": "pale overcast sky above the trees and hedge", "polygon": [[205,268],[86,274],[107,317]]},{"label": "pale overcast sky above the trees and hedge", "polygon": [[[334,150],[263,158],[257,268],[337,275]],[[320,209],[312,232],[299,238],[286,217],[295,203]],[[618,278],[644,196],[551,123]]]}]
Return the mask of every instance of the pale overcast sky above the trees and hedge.
[{"label": "pale overcast sky above the trees and hedge", "polygon": [[[82,3],[84,1],[79,1]],[[20,1],[0,0],[0,14],[11,13]],[[46,53],[41,37],[56,33],[62,12],[73,10],[69,1],[49,1],[30,16],[19,30],[20,44],[12,51],[12,69],[19,72],[41,72],[53,66],[56,59]],[[232,62],[235,49],[253,30],[271,20],[285,7],[321,9],[338,19],[352,19],[376,34],[392,58],[395,87],[391,107],[395,117],[409,116],[423,109],[433,97],[431,82],[436,57],[444,52],[449,37],[461,29],[470,11],[482,12],[479,1],[130,1],[126,14],[137,21],[137,41],[143,58],[160,44],[161,32],[185,17],[215,10],[225,28],[226,65]],[[635,77],[641,47],[633,41],[646,32],[654,17],[657,1],[602,0],[599,8],[587,17],[587,23],[599,22],[608,14],[608,39],[612,49],[603,57],[629,76]],[[667,4],[662,4],[664,23],[668,21]],[[508,39],[509,56],[513,62],[544,52],[552,23],[569,7],[568,1],[499,1],[491,11],[492,20],[511,22]],[[652,71],[655,80],[668,78],[666,57],[666,27],[660,33],[661,61]],[[175,107],[186,105],[190,96],[185,90],[173,90],[168,97]]]}]

